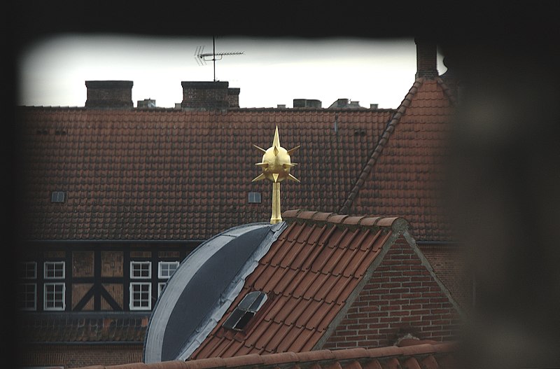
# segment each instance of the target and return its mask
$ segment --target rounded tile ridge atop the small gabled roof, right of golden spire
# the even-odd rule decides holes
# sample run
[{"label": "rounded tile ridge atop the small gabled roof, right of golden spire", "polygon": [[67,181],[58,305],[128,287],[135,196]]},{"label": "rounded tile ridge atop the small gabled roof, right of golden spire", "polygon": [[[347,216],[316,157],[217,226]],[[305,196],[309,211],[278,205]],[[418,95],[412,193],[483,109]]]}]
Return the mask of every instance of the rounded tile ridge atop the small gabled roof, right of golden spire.
[{"label": "rounded tile ridge atop the small gabled roof, right of golden spire", "polygon": [[346,228],[391,228],[402,230],[408,227],[408,222],[400,216],[349,216],[346,214],[325,213],[322,211],[307,211],[303,209],[290,209],[282,213],[286,222],[300,221],[317,225],[332,224]]}]

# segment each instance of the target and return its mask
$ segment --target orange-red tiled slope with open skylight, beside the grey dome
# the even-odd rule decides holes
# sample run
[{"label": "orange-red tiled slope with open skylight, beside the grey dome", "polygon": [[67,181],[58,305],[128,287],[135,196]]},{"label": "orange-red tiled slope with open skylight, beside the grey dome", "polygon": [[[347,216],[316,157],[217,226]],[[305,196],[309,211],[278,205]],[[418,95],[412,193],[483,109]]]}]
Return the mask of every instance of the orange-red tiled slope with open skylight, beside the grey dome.
[{"label": "orange-red tiled slope with open skylight, beside the grey dome", "polygon": [[[191,358],[309,351],[332,320],[401,218],[285,211],[289,224],[245,280],[241,293]],[[394,226],[393,226],[394,225]],[[224,321],[251,291],[265,305],[243,332]]]}]

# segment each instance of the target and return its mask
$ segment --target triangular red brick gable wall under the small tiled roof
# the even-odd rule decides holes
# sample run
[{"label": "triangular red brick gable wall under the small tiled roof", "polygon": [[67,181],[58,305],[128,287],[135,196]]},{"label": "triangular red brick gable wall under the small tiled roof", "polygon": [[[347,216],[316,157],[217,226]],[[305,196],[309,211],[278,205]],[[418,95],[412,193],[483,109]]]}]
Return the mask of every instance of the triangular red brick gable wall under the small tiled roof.
[{"label": "triangular red brick gable wall under the small tiled roof", "polygon": [[407,333],[450,340],[456,328],[453,305],[400,236],[323,348],[388,346]]}]

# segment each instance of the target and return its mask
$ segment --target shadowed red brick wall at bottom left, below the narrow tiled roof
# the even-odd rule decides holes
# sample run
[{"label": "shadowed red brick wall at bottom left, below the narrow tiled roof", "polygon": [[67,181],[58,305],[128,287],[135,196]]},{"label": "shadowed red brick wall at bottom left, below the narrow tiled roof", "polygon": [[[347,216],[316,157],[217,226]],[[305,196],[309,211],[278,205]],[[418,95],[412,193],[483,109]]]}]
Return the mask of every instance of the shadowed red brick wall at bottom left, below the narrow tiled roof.
[{"label": "shadowed red brick wall at bottom left, below the narrow tiled roof", "polygon": [[142,344],[34,344],[25,347],[22,366],[118,365],[142,361]]}]

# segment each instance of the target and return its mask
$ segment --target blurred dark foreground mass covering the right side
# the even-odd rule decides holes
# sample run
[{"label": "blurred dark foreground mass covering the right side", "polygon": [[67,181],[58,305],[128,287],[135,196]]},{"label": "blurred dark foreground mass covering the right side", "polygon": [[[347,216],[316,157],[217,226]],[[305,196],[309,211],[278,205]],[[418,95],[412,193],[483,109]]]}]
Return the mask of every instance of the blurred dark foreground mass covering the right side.
[{"label": "blurred dark foreground mass covering the right side", "polygon": [[537,43],[447,49],[463,81],[447,198],[475,274],[470,368],[560,365],[560,64]]}]

